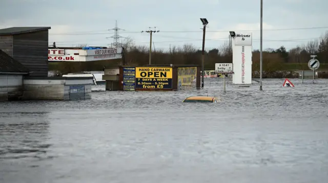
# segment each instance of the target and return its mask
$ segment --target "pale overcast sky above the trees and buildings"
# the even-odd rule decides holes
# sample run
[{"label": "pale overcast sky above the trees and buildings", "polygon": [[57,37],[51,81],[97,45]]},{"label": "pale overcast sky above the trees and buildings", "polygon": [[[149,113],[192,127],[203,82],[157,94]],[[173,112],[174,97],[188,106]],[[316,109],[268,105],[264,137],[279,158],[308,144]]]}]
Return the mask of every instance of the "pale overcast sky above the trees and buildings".
[{"label": "pale overcast sky above the trees and buildings", "polygon": [[[140,32],[156,27],[160,31],[153,36],[156,49],[186,43],[201,48],[199,18],[203,17],[209,21],[207,49],[228,41],[230,30],[249,30],[253,33],[253,49],[259,49],[260,0],[233,2],[2,0],[0,28],[49,26],[51,44],[55,41],[57,46],[108,46],[113,39],[106,37],[114,35],[108,30],[115,27],[117,20],[118,27],[125,30],[119,35],[131,37],[136,45],[149,46],[149,34]],[[290,49],[318,38],[328,30],[326,7],[326,0],[263,0],[263,48],[284,45]]]}]

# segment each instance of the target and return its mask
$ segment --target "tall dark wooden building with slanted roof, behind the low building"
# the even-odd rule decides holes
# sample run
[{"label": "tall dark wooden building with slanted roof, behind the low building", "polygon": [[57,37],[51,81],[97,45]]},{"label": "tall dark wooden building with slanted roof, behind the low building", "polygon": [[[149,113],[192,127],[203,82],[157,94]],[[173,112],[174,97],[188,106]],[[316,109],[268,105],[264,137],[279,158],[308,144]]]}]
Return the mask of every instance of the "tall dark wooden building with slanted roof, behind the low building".
[{"label": "tall dark wooden building with slanted roof, behind the low building", "polygon": [[48,32],[50,27],[0,29],[0,49],[22,63],[30,76],[48,76]]}]

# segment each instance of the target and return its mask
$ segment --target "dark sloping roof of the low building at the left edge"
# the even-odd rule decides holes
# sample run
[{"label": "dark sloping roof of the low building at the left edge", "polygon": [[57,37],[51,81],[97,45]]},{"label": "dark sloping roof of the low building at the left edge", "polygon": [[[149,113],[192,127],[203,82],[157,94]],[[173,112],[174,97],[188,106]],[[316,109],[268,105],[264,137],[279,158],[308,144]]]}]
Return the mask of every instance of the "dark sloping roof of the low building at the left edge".
[{"label": "dark sloping roof of the low building at the left edge", "polygon": [[1,72],[29,72],[29,69],[26,68],[23,64],[16,61],[5,51],[0,49],[0,73]]}]

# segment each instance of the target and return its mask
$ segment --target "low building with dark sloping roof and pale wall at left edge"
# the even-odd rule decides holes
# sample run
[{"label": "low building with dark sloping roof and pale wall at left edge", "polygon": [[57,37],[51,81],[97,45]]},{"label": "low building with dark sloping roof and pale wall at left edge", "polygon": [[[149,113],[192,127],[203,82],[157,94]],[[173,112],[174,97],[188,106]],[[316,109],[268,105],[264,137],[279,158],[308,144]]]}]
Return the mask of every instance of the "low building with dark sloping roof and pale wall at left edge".
[{"label": "low building with dark sloping roof and pale wall at left edge", "polygon": [[29,69],[0,49],[0,101],[23,96],[23,75]]}]

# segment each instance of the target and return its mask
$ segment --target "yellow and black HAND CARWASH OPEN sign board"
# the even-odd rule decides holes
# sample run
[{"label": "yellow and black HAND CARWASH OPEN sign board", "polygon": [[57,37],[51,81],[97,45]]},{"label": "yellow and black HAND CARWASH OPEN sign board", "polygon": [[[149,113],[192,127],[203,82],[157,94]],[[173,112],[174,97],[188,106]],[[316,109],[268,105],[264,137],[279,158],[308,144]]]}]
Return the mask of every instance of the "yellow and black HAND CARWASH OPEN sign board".
[{"label": "yellow and black HAND CARWASH OPEN sign board", "polygon": [[171,89],[171,67],[136,67],[135,88],[138,89]]}]

